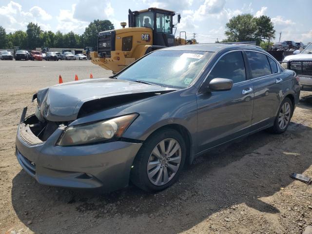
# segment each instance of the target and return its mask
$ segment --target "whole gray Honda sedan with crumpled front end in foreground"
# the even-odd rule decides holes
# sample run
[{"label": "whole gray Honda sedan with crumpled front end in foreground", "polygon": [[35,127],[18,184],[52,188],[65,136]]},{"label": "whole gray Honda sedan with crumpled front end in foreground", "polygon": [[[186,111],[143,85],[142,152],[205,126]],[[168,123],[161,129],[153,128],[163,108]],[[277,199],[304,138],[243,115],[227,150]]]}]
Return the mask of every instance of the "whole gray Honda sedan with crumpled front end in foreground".
[{"label": "whole gray Honda sedan with crumpled front end in foreground", "polygon": [[159,49],[110,78],[39,90],[16,155],[42,184],[160,191],[213,147],[284,133],[300,95],[294,74],[256,46]]}]

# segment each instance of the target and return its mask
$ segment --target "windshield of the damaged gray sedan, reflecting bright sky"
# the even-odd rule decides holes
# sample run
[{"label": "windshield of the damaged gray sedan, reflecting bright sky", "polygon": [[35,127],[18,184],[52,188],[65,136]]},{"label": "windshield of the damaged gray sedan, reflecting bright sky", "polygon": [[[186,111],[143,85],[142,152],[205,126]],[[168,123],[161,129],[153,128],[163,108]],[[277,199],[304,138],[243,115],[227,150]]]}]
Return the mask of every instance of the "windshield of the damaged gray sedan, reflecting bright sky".
[{"label": "windshield of the damaged gray sedan, reflecting bright sky", "polygon": [[186,88],[196,78],[213,52],[155,51],[117,76],[172,88]]}]

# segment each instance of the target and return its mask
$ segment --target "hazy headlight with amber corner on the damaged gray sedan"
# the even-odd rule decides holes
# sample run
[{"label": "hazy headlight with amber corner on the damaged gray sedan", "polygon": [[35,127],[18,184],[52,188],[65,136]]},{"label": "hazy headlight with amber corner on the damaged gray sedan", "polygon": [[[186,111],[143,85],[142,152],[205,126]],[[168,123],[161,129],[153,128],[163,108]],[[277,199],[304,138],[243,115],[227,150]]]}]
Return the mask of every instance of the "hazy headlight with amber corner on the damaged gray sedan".
[{"label": "hazy headlight with amber corner on the damaged gray sedan", "polygon": [[117,139],[127,130],[138,114],[116,117],[65,129],[57,145],[70,146]]}]

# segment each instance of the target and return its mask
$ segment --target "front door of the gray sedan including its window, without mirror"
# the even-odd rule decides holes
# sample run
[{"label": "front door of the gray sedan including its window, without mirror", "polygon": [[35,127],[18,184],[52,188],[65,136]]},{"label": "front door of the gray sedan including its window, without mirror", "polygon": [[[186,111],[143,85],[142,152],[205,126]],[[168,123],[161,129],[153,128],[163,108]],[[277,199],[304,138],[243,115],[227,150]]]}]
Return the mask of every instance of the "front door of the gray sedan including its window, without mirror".
[{"label": "front door of the gray sedan including its window, without mirror", "polygon": [[229,91],[197,94],[197,153],[248,134],[251,126],[254,86],[248,79],[241,51],[223,54],[203,85],[213,78],[233,80]]}]

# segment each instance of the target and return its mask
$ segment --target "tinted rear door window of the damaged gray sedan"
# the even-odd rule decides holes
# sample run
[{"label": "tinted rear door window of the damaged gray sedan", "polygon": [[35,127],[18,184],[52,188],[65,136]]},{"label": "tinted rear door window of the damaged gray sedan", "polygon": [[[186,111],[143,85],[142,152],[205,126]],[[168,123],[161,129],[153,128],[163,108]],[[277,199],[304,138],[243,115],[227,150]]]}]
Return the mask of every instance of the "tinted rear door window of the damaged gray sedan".
[{"label": "tinted rear door window of the damaged gray sedan", "polygon": [[253,78],[271,75],[271,67],[267,56],[258,52],[246,51]]}]

